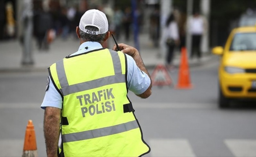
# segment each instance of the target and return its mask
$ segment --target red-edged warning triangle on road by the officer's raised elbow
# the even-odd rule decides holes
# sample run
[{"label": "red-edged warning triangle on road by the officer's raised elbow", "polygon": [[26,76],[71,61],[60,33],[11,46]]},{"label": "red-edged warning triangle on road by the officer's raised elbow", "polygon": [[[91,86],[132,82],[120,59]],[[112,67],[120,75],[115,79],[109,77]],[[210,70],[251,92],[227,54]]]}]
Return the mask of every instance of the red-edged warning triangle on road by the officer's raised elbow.
[{"label": "red-edged warning triangle on road by the officer's raised elbow", "polygon": [[153,86],[170,86],[172,85],[172,78],[168,73],[167,68],[162,65],[158,64],[152,75],[151,75],[152,85]]}]

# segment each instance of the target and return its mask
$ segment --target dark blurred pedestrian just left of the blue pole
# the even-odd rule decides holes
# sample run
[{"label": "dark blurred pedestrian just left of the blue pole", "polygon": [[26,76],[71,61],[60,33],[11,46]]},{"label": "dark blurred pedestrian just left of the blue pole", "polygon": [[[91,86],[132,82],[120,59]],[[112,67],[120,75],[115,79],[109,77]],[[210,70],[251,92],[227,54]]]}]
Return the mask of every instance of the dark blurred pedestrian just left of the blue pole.
[{"label": "dark blurred pedestrian just left of the blue pole", "polygon": [[126,7],[124,9],[124,18],[123,18],[124,34],[125,34],[126,41],[128,41],[130,39],[131,24],[132,24],[132,10],[130,7]]}]

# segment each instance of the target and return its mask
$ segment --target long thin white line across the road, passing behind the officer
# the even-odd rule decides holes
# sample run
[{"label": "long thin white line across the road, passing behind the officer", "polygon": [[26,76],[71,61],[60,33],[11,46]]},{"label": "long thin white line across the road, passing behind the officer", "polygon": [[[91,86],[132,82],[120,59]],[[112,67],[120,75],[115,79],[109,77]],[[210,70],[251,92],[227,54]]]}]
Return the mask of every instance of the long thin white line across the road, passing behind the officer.
[{"label": "long thin white line across the road, passing behind the officer", "polygon": [[[216,104],[210,103],[141,103],[141,102],[132,102],[133,108],[153,108],[153,109],[168,109],[168,108],[217,108]],[[0,103],[0,108],[40,108],[41,104],[38,102],[35,103]]]}]

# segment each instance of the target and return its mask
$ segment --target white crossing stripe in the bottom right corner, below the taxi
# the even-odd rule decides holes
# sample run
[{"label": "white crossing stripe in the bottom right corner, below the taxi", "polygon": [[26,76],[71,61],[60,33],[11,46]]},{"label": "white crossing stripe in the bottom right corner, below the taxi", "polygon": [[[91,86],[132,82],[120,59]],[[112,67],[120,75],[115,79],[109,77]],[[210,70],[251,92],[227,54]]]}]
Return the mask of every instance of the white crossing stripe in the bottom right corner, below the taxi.
[{"label": "white crossing stripe in the bottom right corner, below the taxi", "polygon": [[224,142],[235,157],[256,157],[255,139],[226,139]]}]

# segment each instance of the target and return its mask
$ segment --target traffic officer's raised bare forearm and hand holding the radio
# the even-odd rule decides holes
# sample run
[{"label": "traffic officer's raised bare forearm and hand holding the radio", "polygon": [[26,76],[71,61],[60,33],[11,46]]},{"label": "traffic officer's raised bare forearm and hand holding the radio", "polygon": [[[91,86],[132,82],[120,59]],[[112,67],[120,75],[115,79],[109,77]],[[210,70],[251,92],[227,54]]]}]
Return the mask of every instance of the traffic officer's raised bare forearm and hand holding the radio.
[{"label": "traffic officer's raised bare forearm and hand holding the radio", "polygon": [[[137,49],[135,49],[134,47],[126,45],[126,44],[118,44],[118,46],[123,53],[130,55],[135,60],[136,65],[139,67],[139,69],[141,69],[141,71],[145,72],[148,75],[148,77],[150,78],[150,75],[141,59],[141,55],[139,54],[139,51]],[[115,49],[117,49],[116,45],[113,46],[113,50],[115,50]],[[144,99],[149,97],[152,93],[151,87],[152,87],[152,81],[150,78],[150,86],[148,87],[148,89],[146,89],[146,91],[144,91],[144,93],[139,94],[138,96],[141,98],[144,98]]]}]

